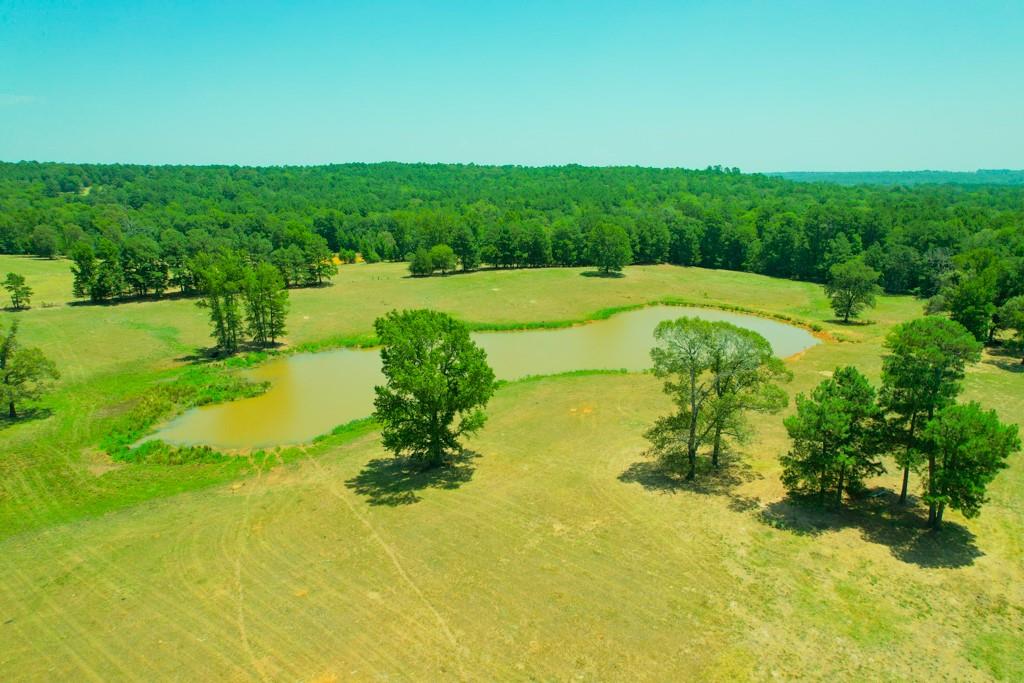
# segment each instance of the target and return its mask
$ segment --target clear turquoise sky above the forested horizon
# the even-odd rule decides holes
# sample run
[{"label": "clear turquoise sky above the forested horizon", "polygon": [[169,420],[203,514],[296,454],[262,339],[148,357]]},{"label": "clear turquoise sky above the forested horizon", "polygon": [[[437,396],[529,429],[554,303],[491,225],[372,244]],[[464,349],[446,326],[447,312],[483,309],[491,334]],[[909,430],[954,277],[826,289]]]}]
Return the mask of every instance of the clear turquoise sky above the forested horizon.
[{"label": "clear turquoise sky above the forested horizon", "polygon": [[0,0],[0,160],[1024,167],[1024,0]]}]

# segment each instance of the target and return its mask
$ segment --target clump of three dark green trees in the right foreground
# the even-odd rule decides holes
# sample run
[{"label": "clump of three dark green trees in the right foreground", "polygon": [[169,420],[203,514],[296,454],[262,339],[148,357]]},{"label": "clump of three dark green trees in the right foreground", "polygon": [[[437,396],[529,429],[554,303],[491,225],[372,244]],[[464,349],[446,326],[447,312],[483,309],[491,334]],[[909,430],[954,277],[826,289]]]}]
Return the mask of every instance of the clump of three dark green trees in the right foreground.
[{"label": "clump of three dark green trees in the right foreground", "polygon": [[793,447],[782,457],[783,484],[841,505],[844,494],[885,471],[881,458],[889,455],[903,471],[900,503],[911,470],[921,473],[930,526],[941,524],[946,507],[977,515],[986,486],[1020,447],[1016,425],[975,402],[956,403],[981,344],[958,323],[928,316],[894,329],[886,348],[880,391],[848,367],[797,396],[797,413],[785,420]]}]

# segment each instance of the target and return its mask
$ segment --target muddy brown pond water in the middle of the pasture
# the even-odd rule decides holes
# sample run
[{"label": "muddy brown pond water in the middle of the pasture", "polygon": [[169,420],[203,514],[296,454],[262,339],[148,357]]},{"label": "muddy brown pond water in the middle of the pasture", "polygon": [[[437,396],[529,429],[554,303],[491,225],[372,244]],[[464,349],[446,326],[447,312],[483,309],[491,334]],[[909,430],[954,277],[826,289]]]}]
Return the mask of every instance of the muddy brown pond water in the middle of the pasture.
[{"label": "muddy brown pond water in the middle of the pasture", "polygon": [[[782,357],[818,343],[809,332],[792,325],[680,306],[641,308],[574,328],[484,332],[473,338],[486,350],[495,374],[504,380],[573,370],[640,371],[650,367],[657,324],[683,315],[754,330]],[[377,349],[297,353],[245,374],[255,382],[270,382],[270,388],[253,398],[188,411],[151,438],[218,449],[302,443],[373,413],[374,385],[383,382]]]}]

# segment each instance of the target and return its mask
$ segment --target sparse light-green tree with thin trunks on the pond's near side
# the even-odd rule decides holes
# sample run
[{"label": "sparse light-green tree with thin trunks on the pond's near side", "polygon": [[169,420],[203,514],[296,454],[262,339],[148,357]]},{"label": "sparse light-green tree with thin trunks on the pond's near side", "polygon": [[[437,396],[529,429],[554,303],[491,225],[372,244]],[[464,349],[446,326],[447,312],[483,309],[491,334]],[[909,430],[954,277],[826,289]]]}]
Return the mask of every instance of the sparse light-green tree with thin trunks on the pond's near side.
[{"label": "sparse light-green tree with thin trunks on the pond's near side", "polygon": [[768,341],[729,323],[681,317],[660,323],[651,349],[654,375],[676,410],[646,433],[651,455],[667,470],[696,476],[697,455],[711,444],[718,467],[723,440],[748,436],[750,412],[773,413],[786,405],[779,381],[790,372],[772,354]]}]

